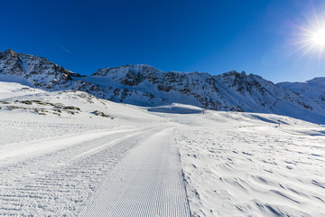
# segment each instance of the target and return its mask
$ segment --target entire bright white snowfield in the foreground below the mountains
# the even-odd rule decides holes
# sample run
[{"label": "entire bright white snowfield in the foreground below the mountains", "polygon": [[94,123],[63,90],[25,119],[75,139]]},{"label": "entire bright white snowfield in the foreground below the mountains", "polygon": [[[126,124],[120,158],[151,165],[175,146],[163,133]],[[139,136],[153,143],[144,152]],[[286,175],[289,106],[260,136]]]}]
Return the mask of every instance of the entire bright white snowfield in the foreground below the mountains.
[{"label": "entire bright white snowfield in the foreground below the mountains", "polygon": [[0,87],[0,216],[325,216],[323,126]]}]

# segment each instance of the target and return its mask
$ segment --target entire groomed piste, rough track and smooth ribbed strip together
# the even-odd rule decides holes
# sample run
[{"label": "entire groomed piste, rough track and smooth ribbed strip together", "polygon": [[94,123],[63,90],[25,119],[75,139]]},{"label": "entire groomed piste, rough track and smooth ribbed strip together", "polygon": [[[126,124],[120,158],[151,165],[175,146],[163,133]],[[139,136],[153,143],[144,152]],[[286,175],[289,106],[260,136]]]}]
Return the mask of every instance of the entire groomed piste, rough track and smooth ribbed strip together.
[{"label": "entire groomed piste, rough track and smooth ribbed strip together", "polygon": [[84,216],[189,216],[172,135],[97,129],[3,145],[0,213],[73,216],[87,206]]}]

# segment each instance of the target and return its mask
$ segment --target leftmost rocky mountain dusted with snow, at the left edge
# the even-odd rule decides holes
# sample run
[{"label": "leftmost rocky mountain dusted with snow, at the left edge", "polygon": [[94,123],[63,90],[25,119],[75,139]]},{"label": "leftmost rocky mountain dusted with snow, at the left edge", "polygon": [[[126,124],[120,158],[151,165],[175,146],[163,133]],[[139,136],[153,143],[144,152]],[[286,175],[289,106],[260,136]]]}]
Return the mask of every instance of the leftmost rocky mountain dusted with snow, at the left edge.
[{"label": "leftmost rocky mountain dusted with snow, at the left edge", "polygon": [[12,50],[0,52],[0,76],[9,80],[25,80],[34,87],[44,89],[69,88],[71,76],[80,75],[52,63],[42,57],[16,53]]}]

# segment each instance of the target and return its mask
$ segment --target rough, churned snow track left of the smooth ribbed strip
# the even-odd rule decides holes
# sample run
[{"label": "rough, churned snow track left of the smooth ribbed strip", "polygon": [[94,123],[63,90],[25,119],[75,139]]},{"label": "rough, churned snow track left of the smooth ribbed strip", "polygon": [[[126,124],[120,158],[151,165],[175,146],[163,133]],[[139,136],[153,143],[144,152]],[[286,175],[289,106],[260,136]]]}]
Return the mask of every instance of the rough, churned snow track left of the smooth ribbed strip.
[{"label": "rough, churned snow track left of the smooth ribbed strip", "polygon": [[0,164],[0,216],[77,215],[128,151],[156,130],[144,127],[107,133]]}]

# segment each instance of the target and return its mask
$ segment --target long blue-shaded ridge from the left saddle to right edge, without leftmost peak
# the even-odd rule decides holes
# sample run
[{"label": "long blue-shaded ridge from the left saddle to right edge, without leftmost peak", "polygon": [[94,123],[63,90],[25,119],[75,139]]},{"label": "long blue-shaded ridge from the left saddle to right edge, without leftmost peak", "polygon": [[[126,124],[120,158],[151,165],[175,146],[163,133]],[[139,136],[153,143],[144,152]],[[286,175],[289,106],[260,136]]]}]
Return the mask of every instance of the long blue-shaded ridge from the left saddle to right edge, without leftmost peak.
[{"label": "long blue-shaded ridge from the left saddle to right edge, without leftmost peak", "polygon": [[148,65],[126,65],[101,69],[78,80],[98,85],[93,90],[81,90],[100,98],[140,106],[183,103],[203,109],[274,113],[325,123],[325,107],[315,99],[245,72],[230,71],[212,77],[208,73],[163,72]]}]

